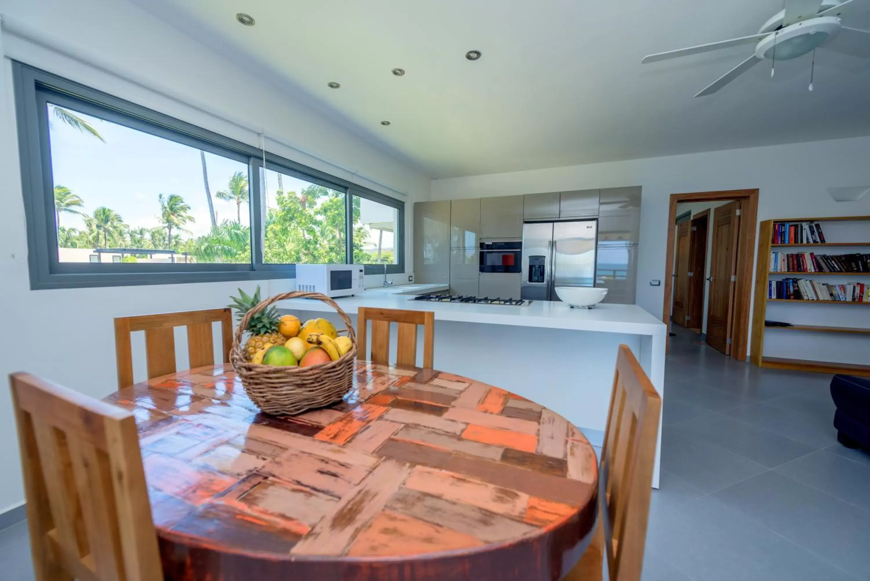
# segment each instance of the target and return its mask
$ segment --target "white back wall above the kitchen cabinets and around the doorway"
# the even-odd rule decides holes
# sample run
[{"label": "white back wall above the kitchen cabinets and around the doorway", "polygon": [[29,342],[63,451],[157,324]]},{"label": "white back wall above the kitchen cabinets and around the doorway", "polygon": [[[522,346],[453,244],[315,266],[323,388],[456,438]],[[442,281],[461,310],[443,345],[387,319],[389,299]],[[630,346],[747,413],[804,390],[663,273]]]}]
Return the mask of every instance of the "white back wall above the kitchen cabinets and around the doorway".
[{"label": "white back wall above the kitchen cabinets and around the doorway", "polygon": [[[758,188],[759,220],[870,215],[870,195],[834,202],[826,192],[831,186],[870,186],[868,153],[870,137],[863,137],[435,179],[432,199],[642,186],[637,303],[660,317],[672,193]],[[662,285],[651,287],[650,280]]]}]

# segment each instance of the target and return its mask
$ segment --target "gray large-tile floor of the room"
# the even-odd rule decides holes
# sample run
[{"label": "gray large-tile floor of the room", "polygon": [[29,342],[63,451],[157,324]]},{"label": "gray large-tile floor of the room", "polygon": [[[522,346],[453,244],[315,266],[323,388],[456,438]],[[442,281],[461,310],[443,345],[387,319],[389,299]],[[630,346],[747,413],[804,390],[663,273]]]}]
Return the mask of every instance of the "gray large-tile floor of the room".
[{"label": "gray large-tile floor of the room", "polygon": [[[677,328],[643,581],[870,578],[870,455],[837,443],[830,375],[760,369]],[[26,525],[0,578],[30,581]]]}]

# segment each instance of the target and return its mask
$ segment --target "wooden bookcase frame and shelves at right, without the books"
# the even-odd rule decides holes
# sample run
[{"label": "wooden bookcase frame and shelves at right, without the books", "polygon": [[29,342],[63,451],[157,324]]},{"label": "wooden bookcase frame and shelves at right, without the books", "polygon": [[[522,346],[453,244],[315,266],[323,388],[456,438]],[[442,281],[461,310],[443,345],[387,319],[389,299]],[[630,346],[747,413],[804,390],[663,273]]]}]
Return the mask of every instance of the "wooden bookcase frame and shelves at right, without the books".
[{"label": "wooden bookcase frame and shelves at right, without the books", "polygon": [[[755,285],[754,285],[754,301],[753,301],[753,328],[752,328],[752,346],[750,361],[755,365],[766,368],[780,369],[795,369],[800,371],[815,371],[819,373],[842,373],[850,375],[868,375],[870,376],[870,365],[857,363],[840,363],[834,361],[812,361],[808,359],[794,359],[788,357],[771,357],[764,355],[764,342],[766,329],[782,330],[782,331],[802,331],[809,334],[841,334],[844,336],[853,336],[854,339],[849,341],[867,341],[865,337],[870,335],[870,328],[867,327],[834,327],[828,325],[803,325],[794,323],[791,327],[766,327],[765,318],[767,305],[770,303],[790,303],[793,305],[802,305],[811,307],[812,305],[863,305],[870,306],[870,302],[860,301],[807,301],[793,299],[768,299],[767,287],[768,282],[772,277],[779,275],[797,276],[804,279],[821,278],[823,276],[867,276],[870,273],[798,273],[793,271],[778,272],[770,270],[770,254],[774,247],[793,247],[793,248],[816,248],[830,247],[831,250],[843,247],[870,247],[870,241],[827,241],[824,243],[790,243],[790,244],[774,244],[773,243],[773,225],[781,222],[821,222],[824,228],[825,222],[870,222],[870,216],[836,216],[836,217],[819,217],[819,218],[783,218],[778,220],[764,220],[759,228],[759,246],[758,259],[755,265]],[[868,224],[870,226],[870,224]],[[844,231],[845,233],[846,231]],[[830,232],[826,231],[825,235],[830,238]],[[847,240],[854,239],[860,236],[849,236]],[[870,239],[870,227],[867,228],[867,239]],[[805,251],[806,252],[806,251]],[[837,252],[829,252],[836,254]],[[773,280],[779,280],[774,278]],[[867,280],[870,283],[870,280]],[[797,311],[801,313],[803,311]],[[838,311],[839,312],[839,311]],[[848,311],[852,312],[852,311]],[[866,311],[855,311],[865,313]],[[860,315],[863,316],[863,315]],[[851,321],[849,321],[851,322]],[[866,323],[865,323],[866,324]],[[807,338],[807,341],[809,338]],[[842,339],[846,341],[846,339]]]}]

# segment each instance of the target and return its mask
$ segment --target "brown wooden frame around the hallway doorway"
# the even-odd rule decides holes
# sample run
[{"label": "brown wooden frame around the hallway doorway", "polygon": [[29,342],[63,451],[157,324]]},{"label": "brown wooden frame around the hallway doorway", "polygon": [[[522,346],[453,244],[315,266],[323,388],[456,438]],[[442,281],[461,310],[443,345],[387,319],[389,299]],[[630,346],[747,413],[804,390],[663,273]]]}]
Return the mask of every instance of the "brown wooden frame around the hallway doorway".
[{"label": "brown wooden frame around the hallway doorway", "polygon": [[[738,233],[737,282],[734,283],[734,317],[732,323],[731,356],[746,361],[749,345],[749,317],[753,300],[753,264],[755,262],[755,233],[758,229],[759,191],[725,190],[722,192],[672,193],[667,216],[667,246],[665,261],[665,296],[661,320],[671,328],[671,290],[673,287],[673,263],[676,238],[677,204],[680,202],[715,202],[740,199],[740,232]],[[709,222],[708,222],[709,224]],[[709,226],[708,226],[709,227]],[[670,340],[668,340],[670,344]]]}]

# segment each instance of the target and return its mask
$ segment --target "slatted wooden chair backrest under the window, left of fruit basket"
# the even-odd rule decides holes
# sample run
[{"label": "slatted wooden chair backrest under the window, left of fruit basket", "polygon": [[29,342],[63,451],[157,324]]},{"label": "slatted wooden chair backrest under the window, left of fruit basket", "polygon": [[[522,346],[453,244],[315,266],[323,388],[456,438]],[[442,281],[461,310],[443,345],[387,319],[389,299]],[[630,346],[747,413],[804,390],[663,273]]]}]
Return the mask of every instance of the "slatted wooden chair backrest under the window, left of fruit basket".
[{"label": "slatted wooden chair backrest under the window, left of fruit basket", "polygon": [[151,379],[177,371],[174,332],[176,327],[187,327],[187,353],[190,357],[191,369],[213,365],[216,361],[211,323],[214,321],[221,323],[221,344],[224,352],[224,359],[217,362],[228,363],[232,348],[232,314],[229,308],[117,317],[115,319],[117,387],[126,388],[133,384],[133,350],[130,342],[130,334],[133,331],[145,332],[145,361],[148,379]]}]

